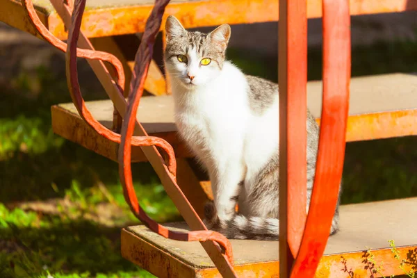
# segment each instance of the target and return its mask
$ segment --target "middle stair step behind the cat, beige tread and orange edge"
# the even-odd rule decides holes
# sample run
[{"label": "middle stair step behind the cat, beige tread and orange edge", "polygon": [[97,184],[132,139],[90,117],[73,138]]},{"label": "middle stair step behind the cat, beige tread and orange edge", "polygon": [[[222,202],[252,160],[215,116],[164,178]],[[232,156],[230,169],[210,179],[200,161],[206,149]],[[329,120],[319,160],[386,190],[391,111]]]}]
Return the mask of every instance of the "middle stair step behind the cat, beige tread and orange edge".
[{"label": "middle stair step behind the cat, beige tread and orange edge", "polygon": [[[322,82],[310,81],[307,92],[308,106],[319,121]],[[110,100],[88,101],[86,105],[99,122],[111,128],[113,104]],[[118,144],[102,138],[91,129],[81,119],[74,104],[52,106],[51,113],[54,133],[117,161]],[[142,97],[138,118],[150,136],[158,136],[170,142],[177,157],[192,156],[177,136],[172,96]],[[347,141],[416,134],[417,74],[383,74],[352,79]],[[140,147],[132,148],[132,161],[147,161]]]}]

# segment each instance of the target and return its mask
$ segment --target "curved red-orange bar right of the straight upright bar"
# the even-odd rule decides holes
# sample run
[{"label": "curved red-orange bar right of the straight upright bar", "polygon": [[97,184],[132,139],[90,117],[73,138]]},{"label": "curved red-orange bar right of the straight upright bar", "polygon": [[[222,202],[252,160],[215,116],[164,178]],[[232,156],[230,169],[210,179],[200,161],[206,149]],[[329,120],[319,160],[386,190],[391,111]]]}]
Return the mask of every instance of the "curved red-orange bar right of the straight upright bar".
[{"label": "curved red-orange bar right of the straight upright bar", "polygon": [[349,0],[323,0],[323,97],[316,177],[291,277],[313,277],[325,251],[345,156],[350,85]]}]

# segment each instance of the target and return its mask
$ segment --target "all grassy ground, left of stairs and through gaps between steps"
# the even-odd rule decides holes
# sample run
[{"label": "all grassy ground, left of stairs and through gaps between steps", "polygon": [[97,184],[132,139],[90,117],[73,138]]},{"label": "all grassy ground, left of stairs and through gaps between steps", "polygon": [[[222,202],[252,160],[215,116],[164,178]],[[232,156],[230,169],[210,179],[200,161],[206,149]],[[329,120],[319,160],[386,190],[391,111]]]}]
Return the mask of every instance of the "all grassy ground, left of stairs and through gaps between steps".
[{"label": "all grassy ground, left of stairs and through gaps between steps", "polygon": [[[277,81],[276,58],[228,54],[248,74]],[[352,76],[417,72],[417,42],[358,47],[352,58]],[[309,49],[309,80],[320,76],[320,49]],[[120,229],[138,221],[117,163],[51,131],[50,106],[71,101],[65,76],[39,68],[35,81],[22,72],[12,83],[14,90],[0,88],[0,277],[152,277],[120,256]],[[414,136],[348,143],[343,204],[417,196],[416,143]],[[137,163],[133,173],[145,210],[161,222],[178,220],[152,167]],[[53,212],[18,206],[51,199]]]}]

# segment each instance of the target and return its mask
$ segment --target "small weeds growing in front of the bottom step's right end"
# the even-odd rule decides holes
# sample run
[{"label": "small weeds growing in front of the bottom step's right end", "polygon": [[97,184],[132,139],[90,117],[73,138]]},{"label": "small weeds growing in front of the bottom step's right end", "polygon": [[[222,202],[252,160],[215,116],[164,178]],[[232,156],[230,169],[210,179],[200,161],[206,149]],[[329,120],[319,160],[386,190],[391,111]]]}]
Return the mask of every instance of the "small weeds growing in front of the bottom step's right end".
[{"label": "small weeds growing in front of the bottom step's right end", "polygon": [[[417,278],[417,248],[414,248],[414,250],[409,250],[407,252],[407,259],[403,259],[401,256],[401,252],[395,247],[394,240],[388,240],[389,245],[391,247],[391,253],[393,254],[394,259],[396,259],[399,263],[398,268],[400,268],[404,275],[401,277],[410,277],[410,278]],[[375,255],[373,252],[371,252],[370,247],[366,247],[368,250],[363,251],[362,255],[362,263],[363,263],[363,269],[369,271],[369,277],[374,278],[375,275],[378,275],[378,277],[387,278],[383,275],[384,270],[384,263],[382,262],[382,265],[377,265],[377,261],[375,259]],[[349,268],[347,259],[345,257],[341,256],[341,263],[343,264],[343,268],[341,268],[341,271],[346,272],[349,277],[354,278],[354,272],[352,271],[352,268]],[[411,270],[407,270],[404,266],[411,266]],[[394,277],[394,275],[389,276],[390,278]],[[398,277],[398,276],[397,276]]]}]

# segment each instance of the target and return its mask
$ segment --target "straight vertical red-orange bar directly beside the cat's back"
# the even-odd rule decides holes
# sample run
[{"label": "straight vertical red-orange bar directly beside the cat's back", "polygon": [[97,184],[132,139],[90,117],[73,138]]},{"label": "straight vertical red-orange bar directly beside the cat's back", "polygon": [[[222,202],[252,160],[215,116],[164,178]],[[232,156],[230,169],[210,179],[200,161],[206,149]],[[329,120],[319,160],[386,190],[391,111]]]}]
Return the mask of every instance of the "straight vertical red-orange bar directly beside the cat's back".
[{"label": "straight vertical red-orange bar directly beside the cat's back", "polygon": [[279,272],[289,277],[306,219],[306,0],[279,1]]}]

